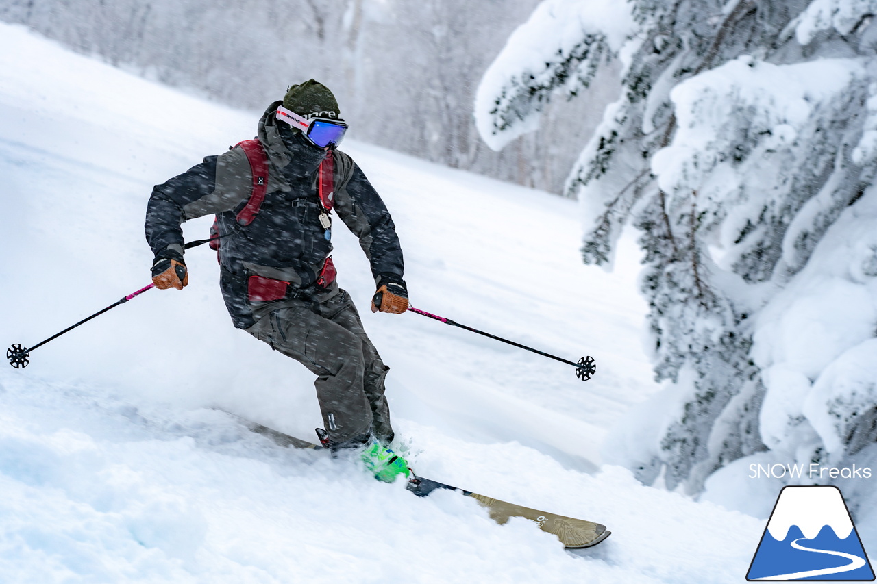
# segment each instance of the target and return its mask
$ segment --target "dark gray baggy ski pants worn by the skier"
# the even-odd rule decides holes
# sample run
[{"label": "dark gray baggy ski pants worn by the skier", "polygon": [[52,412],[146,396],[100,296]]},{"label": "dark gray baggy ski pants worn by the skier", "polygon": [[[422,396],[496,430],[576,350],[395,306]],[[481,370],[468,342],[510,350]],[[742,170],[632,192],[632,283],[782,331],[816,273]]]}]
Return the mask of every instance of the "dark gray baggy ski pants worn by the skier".
[{"label": "dark gray baggy ski pants worn by the skier", "polygon": [[317,375],[314,386],[331,445],[369,433],[384,442],[393,437],[384,397],[389,367],[345,290],[322,302],[283,301],[246,331]]}]

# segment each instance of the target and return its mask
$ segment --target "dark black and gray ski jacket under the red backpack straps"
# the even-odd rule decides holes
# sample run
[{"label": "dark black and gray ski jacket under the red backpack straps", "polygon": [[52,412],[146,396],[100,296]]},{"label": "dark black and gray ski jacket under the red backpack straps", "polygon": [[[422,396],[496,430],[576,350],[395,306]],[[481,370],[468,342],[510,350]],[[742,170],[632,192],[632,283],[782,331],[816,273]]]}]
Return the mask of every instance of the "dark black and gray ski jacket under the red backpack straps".
[{"label": "dark black and gray ski jacket under the red backpack straps", "polygon": [[[260,308],[248,300],[249,276],[308,289],[332,252],[331,229],[325,230],[318,218],[317,169],[324,151],[275,119],[280,103],[272,103],[259,122],[268,186],[251,224],[236,218],[253,191],[253,172],[239,146],[157,185],[146,207],[146,240],[153,253],[166,248],[182,253],[182,222],[217,214],[224,236],[219,254],[223,296],[239,328],[252,326],[253,310]],[[381,274],[402,277],[402,249],[387,207],[350,156],[336,150],[333,162],[333,211],[359,237],[375,281]]]}]

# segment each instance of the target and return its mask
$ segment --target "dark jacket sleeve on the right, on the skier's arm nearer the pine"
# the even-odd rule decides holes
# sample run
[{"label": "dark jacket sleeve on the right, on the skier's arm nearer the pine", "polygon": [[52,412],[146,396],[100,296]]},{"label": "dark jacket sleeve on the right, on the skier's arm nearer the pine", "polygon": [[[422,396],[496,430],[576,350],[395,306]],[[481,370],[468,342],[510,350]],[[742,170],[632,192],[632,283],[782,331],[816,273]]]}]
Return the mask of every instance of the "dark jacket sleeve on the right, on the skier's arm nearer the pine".
[{"label": "dark jacket sleeve on the right, on the skier's arm nearer the pine", "polygon": [[402,246],[399,245],[396,225],[389,210],[360,167],[353,160],[346,161],[352,165],[352,170],[349,180],[340,189],[335,189],[335,210],[360,239],[362,251],[371,264],[374,281],[379,281],[381,274],[402,278]]}]

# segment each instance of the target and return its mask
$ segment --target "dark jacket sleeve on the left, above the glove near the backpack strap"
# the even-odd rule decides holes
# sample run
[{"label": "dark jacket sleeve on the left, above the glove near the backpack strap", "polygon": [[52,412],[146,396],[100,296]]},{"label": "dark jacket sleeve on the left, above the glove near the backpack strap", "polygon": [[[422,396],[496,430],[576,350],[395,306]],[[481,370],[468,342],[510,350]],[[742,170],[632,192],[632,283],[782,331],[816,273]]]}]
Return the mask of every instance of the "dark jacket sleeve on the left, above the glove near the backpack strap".
[{"label": "dark jacket sleeve on the left, above the glove near the backpack strap", "polygon": [[[146,204],[146,241],[153,253],[168,247],[183,253],[184,239],[181,224],[189,219],[221,213],[234,209],[249,196],[246,189],[221,189],[220,183],[225,174],[232,170],[235,174],[249,173],[249,164],[240,165],[242,153],[239,148],[222,154],[208,156],[201,164],[189,168],[164,184],[156,185]],[[244,181],[236,184],[248,185],[249,176],[240,177]]]}]

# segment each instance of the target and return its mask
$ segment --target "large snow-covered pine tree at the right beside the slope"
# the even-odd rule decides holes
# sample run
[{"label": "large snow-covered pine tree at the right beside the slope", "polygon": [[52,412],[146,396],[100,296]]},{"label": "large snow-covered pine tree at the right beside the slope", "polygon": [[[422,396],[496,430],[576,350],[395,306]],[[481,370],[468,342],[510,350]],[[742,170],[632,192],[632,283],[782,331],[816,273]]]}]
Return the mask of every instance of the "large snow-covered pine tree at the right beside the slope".
[{"label": "large snow-covered pine tree at the right beside the slope", "polygon": [[566,192],[585,263],[610,265],[624,224],[645,251],[667,384],[616,452],[641,481],[701,492],[766,451],[877,459],[875,14],[877,0],[545,0],[484,75],[478,127],[501,148],[623,63]]}]

